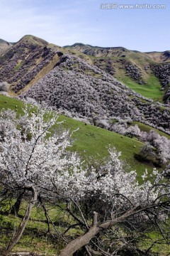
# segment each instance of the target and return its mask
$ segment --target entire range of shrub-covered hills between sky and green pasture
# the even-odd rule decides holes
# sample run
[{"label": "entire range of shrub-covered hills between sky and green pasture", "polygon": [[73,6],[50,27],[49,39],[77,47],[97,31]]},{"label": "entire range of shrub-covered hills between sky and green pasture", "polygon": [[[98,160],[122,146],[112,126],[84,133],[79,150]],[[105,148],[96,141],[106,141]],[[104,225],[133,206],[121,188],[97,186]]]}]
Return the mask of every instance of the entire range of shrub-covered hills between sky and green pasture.
[{"label": "entire range of shrub-covered hills between sky and green pasture", "polygon": [[162,102],[159,80],[165,82],[165,73],[164,88],[169,86],[167,69],[168,62],[155,63],[147,53],[80,43],[61,48],[30,35],[0,55],[0,82],[11,85],[12,95],[46,102],[106,128],[115,119],[130,119],[169,133],[169,105],[154,102],[157,97]]}]

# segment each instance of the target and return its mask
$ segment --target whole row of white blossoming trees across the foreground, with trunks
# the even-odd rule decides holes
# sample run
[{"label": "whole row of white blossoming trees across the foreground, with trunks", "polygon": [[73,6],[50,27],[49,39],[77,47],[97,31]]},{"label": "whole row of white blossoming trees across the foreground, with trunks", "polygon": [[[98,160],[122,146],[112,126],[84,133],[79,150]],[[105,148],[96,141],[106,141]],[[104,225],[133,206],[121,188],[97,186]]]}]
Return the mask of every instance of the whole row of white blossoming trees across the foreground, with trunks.
[{"label": "whole row of white blossoming trees across the foreground, with trunks", "polygon": [[[19,119],[11,111],[1,112],[0,121],[0,200],[11,193],[16,198],[11,208],[15,213],[22,198],[28,202],[21,224],[1,255],[10,252],[21,238],[39,201],[44,209],[46,203],[62,201],[72,218],[62,234],[67,244],[60,256],[79,250],[81,255],[83,250],[89,255],[126,255],[128,250],[149,255],[152,246],[145,252],[137,247],[140,234],[148,229],[169,242],[168,169],[154,169],[150,175],[145,171],[139,184],[136,171],[124,171],[115,149],[108,149],[110,157],[103,165],[85,166],[76,153],[67,150],[71,146],[69,132],[52,129],[57,114],[40,107],[32,113],[25,110]],[[67,236],[75,226],[81,235]]]}]

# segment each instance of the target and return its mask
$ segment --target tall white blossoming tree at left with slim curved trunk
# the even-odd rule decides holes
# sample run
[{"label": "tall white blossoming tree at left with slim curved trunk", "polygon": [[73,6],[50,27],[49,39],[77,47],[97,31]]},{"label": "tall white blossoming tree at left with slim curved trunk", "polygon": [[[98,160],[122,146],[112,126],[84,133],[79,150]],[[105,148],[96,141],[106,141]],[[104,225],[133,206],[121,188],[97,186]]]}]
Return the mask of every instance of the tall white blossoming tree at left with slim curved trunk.
[{"label": "tall white blossoming tree at left with slim curved trunk", "polygon": [[13,194],[19,191],[20,195],[25,193],[28,197],[26,213],[8,251],[21,238],[40,193],[42,197],[51,193],[55,177],[60,183],[62,175],[68,179],[72,171],[81,171],[79,157],[67,151],[71,146],[69,131],[57,133],[50,130],[57,123],[58,114],[45,112],[40,107],[35,112],[29,112],[27,108],[23,111],[23,117],[18,120],[11,118],[13,113],[7,114],[10,111],[1,114],[1,186]]}]

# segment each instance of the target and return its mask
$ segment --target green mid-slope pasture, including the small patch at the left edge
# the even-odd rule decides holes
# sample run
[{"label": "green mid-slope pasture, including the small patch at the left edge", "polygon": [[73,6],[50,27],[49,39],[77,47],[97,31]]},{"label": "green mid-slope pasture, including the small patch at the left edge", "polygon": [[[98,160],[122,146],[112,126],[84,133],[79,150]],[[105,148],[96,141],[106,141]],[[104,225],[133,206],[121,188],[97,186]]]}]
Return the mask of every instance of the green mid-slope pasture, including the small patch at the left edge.
[{"label": "green mid-slope pasture, including the small patch at the left edge", "polygon": [[[23,106],[24,103],[20,100],[0,95],[0,110],[2,108],[10,108],[11,110],[15,110],[17,114],[22,114]],[[102,161],[103,158],[108,156],[107,148],[111,146],[115,147],[117,151],[122,152],[120,158],[130,166],[130,169],[137,171],[139,180],[146,168],[148,171],[152,171],[153,165],[150,162],[140,162],[134,157],[135,154],[139,154],[141,147],[144,145],[137,139],[124,137],[115,132],[110,132],[90,124],[84,124],[83,122],[63,115],[60,116],[59,120],[64,120],[62,127],[69,129],[71,132],[79,128],[72,136],[74,143],[71,150],[77,151],[86,161],[90,161],[89,159]]]}]

